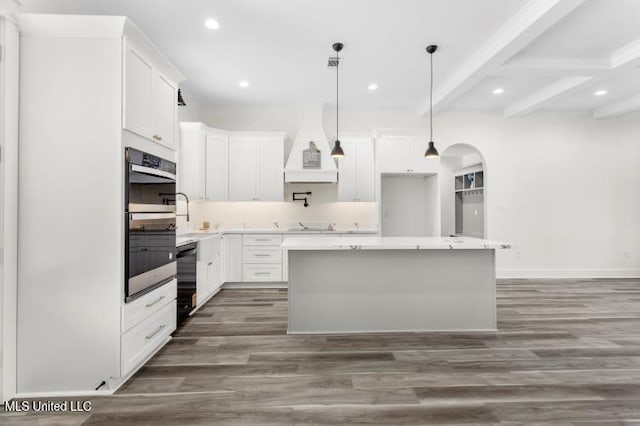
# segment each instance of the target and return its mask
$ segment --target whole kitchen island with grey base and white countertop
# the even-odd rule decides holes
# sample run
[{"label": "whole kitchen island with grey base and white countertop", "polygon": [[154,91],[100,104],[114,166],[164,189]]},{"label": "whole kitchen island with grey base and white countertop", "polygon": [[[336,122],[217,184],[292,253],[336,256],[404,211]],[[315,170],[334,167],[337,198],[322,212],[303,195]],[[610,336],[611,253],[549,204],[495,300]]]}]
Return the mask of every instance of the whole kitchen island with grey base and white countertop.
[{"label": "whole kitchen island with grey base and white countertop", "polygon": [[493,331],[495,250],[465,237],[286,239],[288,333]]}]

